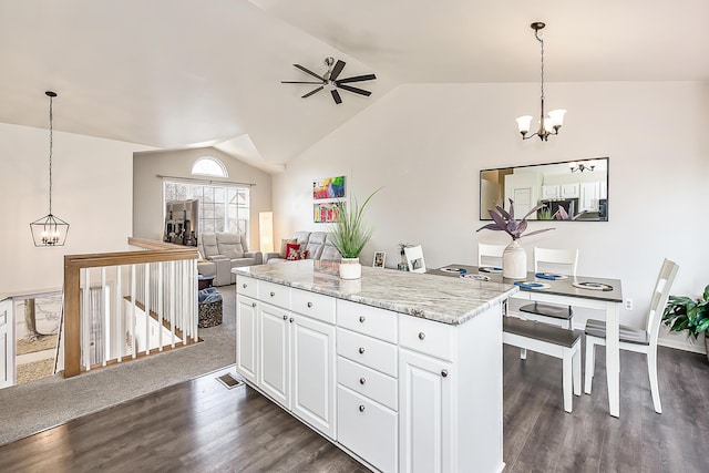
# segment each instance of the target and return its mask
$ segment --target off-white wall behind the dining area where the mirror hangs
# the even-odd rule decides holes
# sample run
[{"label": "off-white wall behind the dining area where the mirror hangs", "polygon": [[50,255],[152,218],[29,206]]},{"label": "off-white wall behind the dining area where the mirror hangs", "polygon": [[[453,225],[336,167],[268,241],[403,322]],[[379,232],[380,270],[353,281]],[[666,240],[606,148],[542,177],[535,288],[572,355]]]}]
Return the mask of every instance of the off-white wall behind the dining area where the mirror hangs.
[{"label": "off-white wall behind the dining area where the mirror hangs", "polygon": [[[477,241],[508,241],[475,233],[480,169],[609,156],[609,222],[561,222],[523,238],[530,264],[535,245],[579,248],[580,275],[623,280],[635,301],[621,313],[629,325],[644,319],[664,257],[680,265],[672,294],[697,296],[709,284],[709,84],[552,83],[545,92],[547,109],[568,112],[561,135],[542,143],[523,142],[514,122],[538,114],[538,84],[395,89],[274,176],[275,237],[327,228],[312,223],[312,179],[347,175],[359,197],[384,186],[369,209],[364,263],[386,250],[395,267],[397,244],[411,243],[430,267],[474,264]],[[688,347],[685,335],[662,337]]]}]

